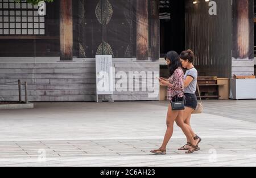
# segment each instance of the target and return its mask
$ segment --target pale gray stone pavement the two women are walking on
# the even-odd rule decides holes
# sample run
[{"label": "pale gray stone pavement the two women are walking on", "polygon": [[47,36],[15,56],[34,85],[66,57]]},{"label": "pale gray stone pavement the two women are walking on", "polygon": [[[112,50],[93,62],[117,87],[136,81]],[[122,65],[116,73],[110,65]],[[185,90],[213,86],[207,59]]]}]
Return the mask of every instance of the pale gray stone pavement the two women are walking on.
[{"label": "pale gray stone pavement the two women are walking on", "polygon": [[0,166],[256,166],[256,100],[207,100],[192,116],[203,142],[187,155],[175,125],[167,155],[166,101],[35,103],[0,111]]}]

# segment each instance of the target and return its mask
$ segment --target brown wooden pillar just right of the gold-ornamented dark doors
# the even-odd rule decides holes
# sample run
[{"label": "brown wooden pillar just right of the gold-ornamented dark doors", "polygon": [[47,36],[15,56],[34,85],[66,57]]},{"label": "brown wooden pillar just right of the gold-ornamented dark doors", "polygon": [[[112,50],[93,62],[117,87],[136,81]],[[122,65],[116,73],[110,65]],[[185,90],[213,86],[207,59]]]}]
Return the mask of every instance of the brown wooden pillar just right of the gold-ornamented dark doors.
[{"label": "brown wooden pillar just right of the gold-ornamented dark doors", "polygon": [[148,60],[148,0],[136,1],[137,60]]}]

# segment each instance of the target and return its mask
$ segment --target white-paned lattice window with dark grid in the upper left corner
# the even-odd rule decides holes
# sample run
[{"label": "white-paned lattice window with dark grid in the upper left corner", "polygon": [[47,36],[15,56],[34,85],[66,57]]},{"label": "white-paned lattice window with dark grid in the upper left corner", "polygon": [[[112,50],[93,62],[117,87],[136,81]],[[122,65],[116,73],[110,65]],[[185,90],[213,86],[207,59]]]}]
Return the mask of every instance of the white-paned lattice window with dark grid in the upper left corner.
[{"label": "white-paned lattice window with dark grid in the upper left corner", "polygon": [[45,35],[44,20],[38,5],[0,0],[0,35]]}]

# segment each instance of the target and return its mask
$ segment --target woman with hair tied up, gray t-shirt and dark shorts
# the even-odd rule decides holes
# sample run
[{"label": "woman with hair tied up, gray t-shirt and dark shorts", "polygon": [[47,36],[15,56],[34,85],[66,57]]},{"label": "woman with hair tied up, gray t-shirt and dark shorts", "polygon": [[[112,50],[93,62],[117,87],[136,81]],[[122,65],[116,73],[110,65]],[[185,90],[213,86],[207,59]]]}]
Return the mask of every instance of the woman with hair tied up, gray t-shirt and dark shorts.
[{"label": "woman with hair tied up, gray t-shirt and dark shorts", "polygon": [[[184,95],[185,95],[185,110],[182,118],[176,119],[176,123],[183,130],[184,123],[189,126],[192,138],[196,141],[197,145],[201,142],[201,138],[198,137],[192,130],[190,125],[191,114],[197,107],[197,70],[193,66],[195,55],[192,50],[188,49],[180,54],[180,61],[184,69],[187,69],[184,75]],[[181,147],[179,150],[188,150],[193,152],[191,142],[187,137],[187,144]]]}]

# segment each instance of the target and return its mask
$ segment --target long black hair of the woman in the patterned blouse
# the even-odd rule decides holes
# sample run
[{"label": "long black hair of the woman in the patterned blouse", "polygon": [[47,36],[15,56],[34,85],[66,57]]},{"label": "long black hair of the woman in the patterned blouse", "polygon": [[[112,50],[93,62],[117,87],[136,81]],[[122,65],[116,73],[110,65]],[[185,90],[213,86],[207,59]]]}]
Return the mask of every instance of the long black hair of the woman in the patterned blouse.
[{"label": "long black hair of the woman in the patterned blouse", "polygon": [[179,54],[177,54],[175,51],[170,51],[164,58],[165,60],[168,59],[171,61],[170,65],[168,65],[169,77],[171,77],[172,74],[174,74],[174,71],[181,67]]}]

